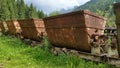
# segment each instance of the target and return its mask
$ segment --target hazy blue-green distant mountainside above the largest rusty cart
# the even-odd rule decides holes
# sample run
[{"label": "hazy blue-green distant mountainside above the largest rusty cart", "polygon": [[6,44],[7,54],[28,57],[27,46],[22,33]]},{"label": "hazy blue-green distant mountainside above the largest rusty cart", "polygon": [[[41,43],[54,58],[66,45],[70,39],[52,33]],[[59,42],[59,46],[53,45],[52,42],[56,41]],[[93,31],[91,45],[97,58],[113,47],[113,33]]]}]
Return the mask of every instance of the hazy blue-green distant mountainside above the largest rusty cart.
[{"label": "hazy blue-green distant mountainside above the largest rusty cart", "polygon": [[109,6],[112,5],[117,0],[91,0],[84,5],[78,6],[74,10],[81,10],[81,9],[89,9],[93,12],[96,12],[97,10],[108,10]]}]

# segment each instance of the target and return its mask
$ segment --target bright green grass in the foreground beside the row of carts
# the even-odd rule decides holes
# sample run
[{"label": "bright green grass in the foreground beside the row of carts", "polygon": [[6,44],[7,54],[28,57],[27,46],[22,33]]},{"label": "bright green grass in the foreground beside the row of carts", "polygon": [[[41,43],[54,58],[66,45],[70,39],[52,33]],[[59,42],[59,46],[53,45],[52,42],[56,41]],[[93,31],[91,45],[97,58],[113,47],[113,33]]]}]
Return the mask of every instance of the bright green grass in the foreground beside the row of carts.
[{"label": "bright green grass in the foreground beside the row of carts", "polygon": [[115,68],[103,63],[79,59],[76,56],[50,53],[45,48],[31,47],[11,36],[0,36],[0,68]]}]

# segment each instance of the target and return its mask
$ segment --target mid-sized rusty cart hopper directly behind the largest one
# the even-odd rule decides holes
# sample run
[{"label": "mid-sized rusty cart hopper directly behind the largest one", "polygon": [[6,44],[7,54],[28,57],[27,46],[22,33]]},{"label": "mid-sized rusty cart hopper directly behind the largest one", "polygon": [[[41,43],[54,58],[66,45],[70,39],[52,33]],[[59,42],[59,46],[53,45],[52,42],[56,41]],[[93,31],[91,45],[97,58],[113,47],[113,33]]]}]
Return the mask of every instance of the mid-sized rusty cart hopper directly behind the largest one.
[{"label": "mid-sized rusty cart hopper directly behind the largest one", "polygon": [[45,27],[42,19],[18,20],[25,38],[39,41],[39,37],[44,35]]}]

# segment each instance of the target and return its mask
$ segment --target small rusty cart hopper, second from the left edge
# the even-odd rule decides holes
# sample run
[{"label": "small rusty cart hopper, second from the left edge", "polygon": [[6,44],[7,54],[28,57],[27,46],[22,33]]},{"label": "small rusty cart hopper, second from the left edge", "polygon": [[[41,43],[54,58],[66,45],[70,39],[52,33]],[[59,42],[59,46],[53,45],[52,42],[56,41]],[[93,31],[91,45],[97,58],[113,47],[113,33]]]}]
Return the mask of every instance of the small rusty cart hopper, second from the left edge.
[{"label": "small rusty cart hopper, second from the left edge", "polygon": [[15,35],[16,33],[21,32],[21,28],[17,20],[6,21],[6,24],[7,24],[8,31],[10,34]]}]

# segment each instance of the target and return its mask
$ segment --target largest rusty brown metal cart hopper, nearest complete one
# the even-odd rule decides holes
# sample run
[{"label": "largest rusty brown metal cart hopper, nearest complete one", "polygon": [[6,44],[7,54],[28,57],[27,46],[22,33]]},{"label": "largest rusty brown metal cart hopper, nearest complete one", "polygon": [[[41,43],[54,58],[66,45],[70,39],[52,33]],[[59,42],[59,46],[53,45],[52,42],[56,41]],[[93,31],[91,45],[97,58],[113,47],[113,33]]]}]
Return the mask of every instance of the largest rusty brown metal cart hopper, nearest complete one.
[{"label": "largest rusty brown metal cart hopper, nearest complete one", "polygon": [[103,34],[105,19],[87,10],[44,18],[50,42],[59,47],[67,47],[90,52],[90,36]]}]

